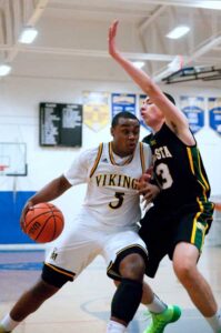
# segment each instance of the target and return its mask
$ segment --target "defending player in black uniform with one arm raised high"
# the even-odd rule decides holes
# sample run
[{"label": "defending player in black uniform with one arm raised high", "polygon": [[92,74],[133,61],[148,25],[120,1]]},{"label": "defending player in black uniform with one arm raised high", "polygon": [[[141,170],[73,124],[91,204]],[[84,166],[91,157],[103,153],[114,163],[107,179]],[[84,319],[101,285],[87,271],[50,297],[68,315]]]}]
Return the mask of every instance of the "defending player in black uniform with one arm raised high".
[{"label": "defending player in black uniform with one arm raised high", "polygon": [[118,51],[117,28],[115,21],[109,30],[109,53],[149,97],[141,115],[152,128],[149,143],[154,155],[153,176],[161,190],[141,221],[140,235],[150,255],[148,274],[154,276],[161,259],[168,254],[194,305],[213,332],[221,332],[218,304],[197,266],[214,205],[209,201],[210,184],[195,139],[173,98]]}]

